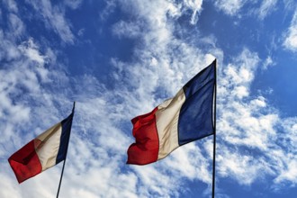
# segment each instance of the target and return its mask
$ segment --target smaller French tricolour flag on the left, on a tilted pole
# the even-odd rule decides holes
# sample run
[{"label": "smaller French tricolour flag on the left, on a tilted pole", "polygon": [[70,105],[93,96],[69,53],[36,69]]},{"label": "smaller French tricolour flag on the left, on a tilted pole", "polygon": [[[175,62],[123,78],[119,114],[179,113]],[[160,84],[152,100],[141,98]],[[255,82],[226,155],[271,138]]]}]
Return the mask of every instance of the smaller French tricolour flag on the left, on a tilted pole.
[{"label": "smaller French tricolour flag on the left, on a tilted pole", "polygon": [[75,104],[71,114],[66,119],[50,127],[37,138],[32,139],[8,158],[8,162],[20,184],[65,160],[74,108]]}]

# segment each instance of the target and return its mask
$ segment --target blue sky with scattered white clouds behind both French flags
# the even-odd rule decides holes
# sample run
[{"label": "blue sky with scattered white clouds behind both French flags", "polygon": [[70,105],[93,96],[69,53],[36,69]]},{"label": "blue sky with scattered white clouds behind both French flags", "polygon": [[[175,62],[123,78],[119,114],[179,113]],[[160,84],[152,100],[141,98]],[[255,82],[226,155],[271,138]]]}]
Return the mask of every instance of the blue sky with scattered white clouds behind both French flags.
[{"label": "blue sky with scattered white clouds behind both French flags", "polygon": [[60,197],[211,197],[212,137],[126,165],[130,120],[217,58],[216,198],[296,197],[294,0],[0,0],[0,197],[55,197],[62,163],[7,162],[76,101]]}]

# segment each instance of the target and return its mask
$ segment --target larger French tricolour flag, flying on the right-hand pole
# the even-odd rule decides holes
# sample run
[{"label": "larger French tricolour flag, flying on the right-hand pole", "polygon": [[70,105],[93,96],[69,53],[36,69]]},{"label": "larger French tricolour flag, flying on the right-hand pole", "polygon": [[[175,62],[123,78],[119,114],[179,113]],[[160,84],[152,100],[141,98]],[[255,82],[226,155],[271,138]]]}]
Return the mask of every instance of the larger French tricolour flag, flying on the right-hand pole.
[{"label": "larger French tricolour flag, flying on the right-hand pole", "polygon": [[175,148],[212,135],[215,81],[216,60],[185,84],[175,97],[132,119],[135,143],[128,148],[127,164],[156,162]]}]

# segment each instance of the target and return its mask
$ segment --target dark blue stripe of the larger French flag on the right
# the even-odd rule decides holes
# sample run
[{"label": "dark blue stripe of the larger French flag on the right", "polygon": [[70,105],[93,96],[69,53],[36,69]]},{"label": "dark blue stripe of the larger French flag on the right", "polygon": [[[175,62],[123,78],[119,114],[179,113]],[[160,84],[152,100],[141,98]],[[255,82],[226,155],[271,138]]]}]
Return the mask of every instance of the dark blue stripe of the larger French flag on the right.
[{"label": "dark blue stripe of the larger French flag on the right", "polygon": [[178,144],[180,146],[213,134],[214,75],[215,61],[183,87],[185,101],[178,120]]}]

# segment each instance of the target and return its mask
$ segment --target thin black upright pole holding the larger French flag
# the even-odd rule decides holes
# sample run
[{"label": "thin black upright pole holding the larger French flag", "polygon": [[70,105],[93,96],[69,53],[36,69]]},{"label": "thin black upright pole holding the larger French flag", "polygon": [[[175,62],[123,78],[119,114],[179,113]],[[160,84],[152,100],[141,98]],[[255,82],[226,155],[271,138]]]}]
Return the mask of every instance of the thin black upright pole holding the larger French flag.
[{"label": "thin black upright pole holding the larger French flag", "polygon": [[214,110],[213,110],[213,159],[212,159],[212,198],[215,189],[215,149],[216,149],[216,116],[217,116],[217,59],[214,60]]}]

